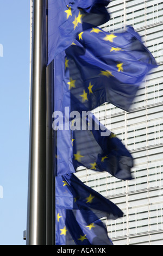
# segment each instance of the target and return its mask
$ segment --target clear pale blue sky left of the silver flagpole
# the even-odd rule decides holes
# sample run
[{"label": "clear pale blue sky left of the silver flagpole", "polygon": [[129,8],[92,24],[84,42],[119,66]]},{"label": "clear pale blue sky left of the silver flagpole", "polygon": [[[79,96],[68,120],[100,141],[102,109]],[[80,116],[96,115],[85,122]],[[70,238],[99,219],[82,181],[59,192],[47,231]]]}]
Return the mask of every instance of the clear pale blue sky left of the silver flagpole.
[{"label": "clear pale blue sky left of the silver flagpole", "polygon": [[29,18],[29,0],[0,0],[0,245],[26,245]]}]

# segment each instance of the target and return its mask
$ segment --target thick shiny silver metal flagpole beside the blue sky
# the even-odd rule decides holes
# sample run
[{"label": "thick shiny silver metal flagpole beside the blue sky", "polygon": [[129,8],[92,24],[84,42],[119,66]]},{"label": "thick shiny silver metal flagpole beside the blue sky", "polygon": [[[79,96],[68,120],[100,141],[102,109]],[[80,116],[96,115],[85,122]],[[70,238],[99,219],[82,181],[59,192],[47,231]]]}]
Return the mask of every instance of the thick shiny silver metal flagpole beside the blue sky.
[{"label": "thick shiny silver metal flagpole beside the blue sky", "polygon": [[27,245],[46,245],[46,7],[33,1]]}]

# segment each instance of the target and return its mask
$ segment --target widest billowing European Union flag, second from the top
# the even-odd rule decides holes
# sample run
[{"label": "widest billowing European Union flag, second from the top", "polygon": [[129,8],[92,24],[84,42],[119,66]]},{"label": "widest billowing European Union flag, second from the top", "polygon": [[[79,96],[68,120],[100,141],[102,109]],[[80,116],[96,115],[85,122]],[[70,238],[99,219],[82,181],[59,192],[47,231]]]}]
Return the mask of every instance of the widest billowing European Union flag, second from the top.
[{"label": "widest billowing European Union flag, second from the top", "polygon": [[65,52],[71,111],[90,111],[104,102],[129,111],[141,82],[157,66],[132,27],[122,33],[87,29]]}]

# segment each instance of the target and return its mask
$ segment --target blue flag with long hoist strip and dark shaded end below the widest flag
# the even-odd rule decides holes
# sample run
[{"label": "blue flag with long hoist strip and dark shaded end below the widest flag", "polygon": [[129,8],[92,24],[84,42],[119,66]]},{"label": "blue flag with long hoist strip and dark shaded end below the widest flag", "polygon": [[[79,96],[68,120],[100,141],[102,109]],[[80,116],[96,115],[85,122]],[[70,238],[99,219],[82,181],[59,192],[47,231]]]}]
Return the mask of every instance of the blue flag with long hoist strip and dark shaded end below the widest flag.
[{"label": "blue flag with long hoist strip and dark shaded end below the widest flag", "polygon": [[74,111],[76,97],[71,92],[76,88],[66,77],[64,52],[55,57],[54,66],[55,175],[73,173],[77,167],[84,166],[98,172],[109,172],[118,179],[132,179],[133,157],[120,139],[105,129],[91,113],[87,117],[83,115],[84,102],[80,101],[78,111]]}]

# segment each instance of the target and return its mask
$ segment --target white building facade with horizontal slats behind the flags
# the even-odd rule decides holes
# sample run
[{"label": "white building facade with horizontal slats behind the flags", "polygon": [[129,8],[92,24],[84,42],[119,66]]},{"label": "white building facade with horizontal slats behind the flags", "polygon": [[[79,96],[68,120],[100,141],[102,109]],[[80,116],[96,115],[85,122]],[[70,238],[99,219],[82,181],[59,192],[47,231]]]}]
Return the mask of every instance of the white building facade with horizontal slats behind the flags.
[{"label": "white building facade with horizontal slats behind the flags", "polygon": [[146,77],[129,112],[109,103],[94,113],[134,157],[133,180],[79,168],[87,186],[115,203],[124,217],[106,221],[114,245],[163,245],[163,3],[161,0],[113,0],[103,29],[133,26],[159,64]]}]

